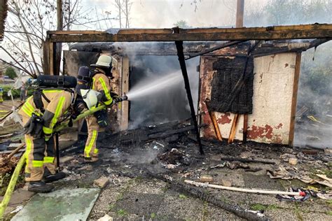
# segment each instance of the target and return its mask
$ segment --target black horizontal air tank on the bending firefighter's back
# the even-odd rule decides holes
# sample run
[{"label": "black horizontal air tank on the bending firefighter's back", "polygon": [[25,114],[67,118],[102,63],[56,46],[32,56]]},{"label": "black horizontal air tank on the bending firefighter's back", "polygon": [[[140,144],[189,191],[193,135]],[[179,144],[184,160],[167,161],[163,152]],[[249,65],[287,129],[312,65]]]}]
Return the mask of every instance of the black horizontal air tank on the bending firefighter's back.
[{"label": "black horizontal air tank on the bending firefighter's back", "polygon": [[76,87],[77,80],[73,76],[38,76],[34,82],[39,87]]}]

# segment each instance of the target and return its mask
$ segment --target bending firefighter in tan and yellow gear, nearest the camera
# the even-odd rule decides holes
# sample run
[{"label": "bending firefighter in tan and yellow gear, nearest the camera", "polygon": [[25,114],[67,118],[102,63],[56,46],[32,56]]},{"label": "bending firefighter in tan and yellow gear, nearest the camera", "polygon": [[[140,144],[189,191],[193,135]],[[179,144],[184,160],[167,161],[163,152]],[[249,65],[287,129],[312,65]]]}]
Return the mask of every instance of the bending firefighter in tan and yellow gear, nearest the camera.
[{"label": "bending firefighter in tan and yellow gear, nearest the camera", "polygon": [[[46,184],[66,176],[56,171],[55,136],[53,128],[71,106],[74,94],[66,90],[40,90],[40,99],[29,97],[20,109],[25,124],[27,165],[25,180],[32,192],[50,192],[53,185]],[[43,181],[44,182],[43,182]]]}]

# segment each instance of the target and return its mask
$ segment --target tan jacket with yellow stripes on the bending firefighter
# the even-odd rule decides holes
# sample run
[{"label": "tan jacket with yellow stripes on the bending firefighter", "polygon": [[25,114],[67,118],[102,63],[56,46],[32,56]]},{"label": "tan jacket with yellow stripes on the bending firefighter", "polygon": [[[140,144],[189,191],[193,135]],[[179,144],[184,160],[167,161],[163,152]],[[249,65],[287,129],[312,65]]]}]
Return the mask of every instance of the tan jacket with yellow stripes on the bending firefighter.
[{"label": "tan jacket with yellow stripes on the bending firefighter", "polygon": [[44,113],[36,108],[33,96],[29,97],[25,104],[20,109],[20,115],[25,117],[32,117],[32,113],[41,116],[43,119],[43,133],[52,134],[53,127],[58,122],[60,117],[67,111],[71,105],[73,94],[65,90],[43,90],[48,101],[42,97]]}]

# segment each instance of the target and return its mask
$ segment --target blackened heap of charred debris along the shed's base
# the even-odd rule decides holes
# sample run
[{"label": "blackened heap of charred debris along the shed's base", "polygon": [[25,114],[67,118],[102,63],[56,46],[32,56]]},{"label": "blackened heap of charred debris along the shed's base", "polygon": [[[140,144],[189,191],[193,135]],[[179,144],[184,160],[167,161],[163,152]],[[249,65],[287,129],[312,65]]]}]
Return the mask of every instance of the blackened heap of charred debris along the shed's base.
[{"label": "blackened heap of charred debris along the shed's base", "polygon": [[[199,127],[205,127],[205,124]],[[99,136],[98,145],[102,153],[102,164],[110,164],[119,171],[125,169],[132,174],[139,173],[136,174],[138,176],[141,176],[142,171],[184,175],[197,169],[202,171],[202,168],[204,171],[225,167],[231,170],[241,169],[244,172],[262,171],[270,175],[270,178],[275,178],[273,174],[279,174],[279,171],[292,173],[298,168],[307,171],[306,164],[324,168],[332,159],[324,150],[289,148],[287,145],[252,141],[235,141],[228,144],[226,140],[204,138],[202,145],[205,155],[200,155],[194,126],[188,121],[167,122],[111,135],[102,134]],[[81,148],[64,151],[78,150],[81,151]],[[290,159],[296,159],[297,169],[289,163]],[[309,172],[303,174],[307,175]],[[191,175],[200,177],[199,173]]]}]

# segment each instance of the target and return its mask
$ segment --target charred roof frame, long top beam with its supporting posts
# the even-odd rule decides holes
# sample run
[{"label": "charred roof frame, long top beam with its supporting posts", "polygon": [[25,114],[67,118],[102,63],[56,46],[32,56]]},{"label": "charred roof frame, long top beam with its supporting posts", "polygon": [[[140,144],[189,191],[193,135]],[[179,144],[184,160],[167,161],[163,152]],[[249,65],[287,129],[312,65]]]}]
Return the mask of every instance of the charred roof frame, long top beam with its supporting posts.
[{"label": "charred roof frame, long top beam with its supporting posts", "polygon": [[[60,58],[55,58],[56,44],[62,42],[138,42],[138,41],[174,41],[177,46],[177,55],[184,77],[184,83],[191,107],[191,116],[195,125],[196,138],[198,140],[200,153],[203,154],[200,142],[198,123],[195,117],[193,99],[186,71],[184,57],[184,41],[249,41],[249,40],[286,40],[286,39],[306,39],[324,38],[327,41],[332,38],[332,24],[303,24],[274,27],[240,27],[240,28],[207,28],[207,29],[119,29],[115,34],[106,31],[48,31],[47,38],[43,47],[44,70],[49,70],[50,75],[57,75],[60,72]],[[231,43],[231,42],[230,42]],[[227,43],[226,46],[227,47]],[[299,57],[299,58],[298,58]],[[300,54],[297,53],[297,64],[300,64]],[[299,70],[299,69],[298,69]],[[296,74],[295,78],[298,78]],[[294,79],[294,82],[296,79]],[[296,83],[297,85],[297,83]],[[296,90],[297,88],[293,88]],[[296,96],[293,96],[296,101]],[[293,104],[292,100],[292,117]],[[293,123],[291,123],[293,124]],[[291,126],[292,127],[292,126]]]}]

